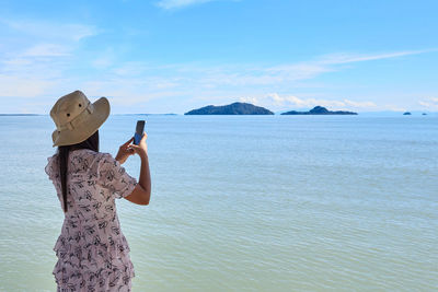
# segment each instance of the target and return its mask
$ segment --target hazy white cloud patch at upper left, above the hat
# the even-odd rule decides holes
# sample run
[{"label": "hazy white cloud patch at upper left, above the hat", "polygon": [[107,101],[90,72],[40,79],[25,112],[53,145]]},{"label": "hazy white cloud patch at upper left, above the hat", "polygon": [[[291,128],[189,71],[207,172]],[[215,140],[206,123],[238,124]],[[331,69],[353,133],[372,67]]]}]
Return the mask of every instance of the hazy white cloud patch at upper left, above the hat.
[{"label": "hazy white cloud patch at upper left, above the hat", "polygon": [[65,87],[76,50],[97,34],[91,25],[42,20],[0,19],[0,97],[26,100]]}]

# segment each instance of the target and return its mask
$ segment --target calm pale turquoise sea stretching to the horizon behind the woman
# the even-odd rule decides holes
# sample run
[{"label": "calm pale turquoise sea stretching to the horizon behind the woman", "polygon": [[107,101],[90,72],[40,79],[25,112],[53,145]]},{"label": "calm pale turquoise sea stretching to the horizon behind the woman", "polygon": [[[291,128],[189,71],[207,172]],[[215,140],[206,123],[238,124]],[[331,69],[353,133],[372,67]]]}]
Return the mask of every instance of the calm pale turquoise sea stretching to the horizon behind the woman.
[{"label": "calm pale turquoise sea stretching to the horizon behind the woman", "polygon": [[[116,153],[140,116],[112,116]],[[438,117],[148,116],[134,291],[438,290]],[[54,291],[48,116],[0,116],[0,290]],[[138,177],[140,161],[125,164]]]}]

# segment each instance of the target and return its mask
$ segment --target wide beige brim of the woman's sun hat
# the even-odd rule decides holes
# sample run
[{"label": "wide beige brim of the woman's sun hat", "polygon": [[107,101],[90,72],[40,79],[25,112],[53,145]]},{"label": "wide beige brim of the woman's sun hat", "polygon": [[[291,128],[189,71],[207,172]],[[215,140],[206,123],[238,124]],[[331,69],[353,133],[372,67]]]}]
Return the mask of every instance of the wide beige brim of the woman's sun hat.
[{"label": "wide beige brim of the woman's sun hat", "polygon": [[110,102],[106,97],[101,97],[93,103],[93,114],[74,126],[74,129],[55,130],[51,133],[53,147],[71,145],[85,141],[92,136],[110,116]]}]

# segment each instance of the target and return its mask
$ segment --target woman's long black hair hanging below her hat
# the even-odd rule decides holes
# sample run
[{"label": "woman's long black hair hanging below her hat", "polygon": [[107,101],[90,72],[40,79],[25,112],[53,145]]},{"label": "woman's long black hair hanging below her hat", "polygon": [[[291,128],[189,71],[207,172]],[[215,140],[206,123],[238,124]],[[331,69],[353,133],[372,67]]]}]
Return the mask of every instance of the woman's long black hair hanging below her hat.
[{"label": "woman's long black hair hanging below her hat", "polygon": [[67,212],[67,166],[69,153],[77,149],[90,149],[99,152],[99,130],[90,136],[85,141],[71,144],[58,147],[58,160],[59,160],[59,174],[61,178],[61,189],[62,189],[62,201],[64,211]]}]

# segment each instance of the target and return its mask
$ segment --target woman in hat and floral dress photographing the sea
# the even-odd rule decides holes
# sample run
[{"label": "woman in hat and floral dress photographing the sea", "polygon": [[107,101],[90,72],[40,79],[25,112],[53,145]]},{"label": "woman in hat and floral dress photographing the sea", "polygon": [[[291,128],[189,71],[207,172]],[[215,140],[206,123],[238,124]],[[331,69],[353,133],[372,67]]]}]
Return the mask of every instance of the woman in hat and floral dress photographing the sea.
[{"label": "woman in hat and floral dress photographing the sea", "polygon": [[[151,180],[145,133],[132,138],[115,159],[99,152],[99,127],[110,115],[105,97],[91,103],[76,91],[60,97],[50,110],[57,129],[51,138],[58,151],[45,171],[53,180],[65,220],[54,250],[58,291],[130,291],[134,266],[120,231],[115,198],[148,205]],[[138,183],[122,164],[137,153],[141,159]]]}]

